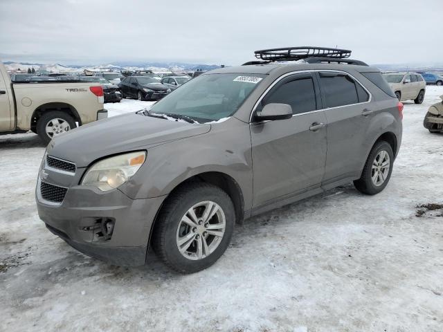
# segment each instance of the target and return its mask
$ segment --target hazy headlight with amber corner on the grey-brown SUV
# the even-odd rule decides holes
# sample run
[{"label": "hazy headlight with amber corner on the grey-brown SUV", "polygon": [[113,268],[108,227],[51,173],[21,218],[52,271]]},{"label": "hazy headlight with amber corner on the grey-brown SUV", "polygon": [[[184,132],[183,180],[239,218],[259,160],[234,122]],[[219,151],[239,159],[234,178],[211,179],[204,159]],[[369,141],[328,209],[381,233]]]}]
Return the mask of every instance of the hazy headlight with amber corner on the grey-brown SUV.
[{"label": "hazy headlight with amber corner on the grey-brown SUV", "polygon": [[88,169],[82,185],[98,187],[102,192],[120,187],[136,174],[145,159],[145,151],[136,151],[100,160]]}]

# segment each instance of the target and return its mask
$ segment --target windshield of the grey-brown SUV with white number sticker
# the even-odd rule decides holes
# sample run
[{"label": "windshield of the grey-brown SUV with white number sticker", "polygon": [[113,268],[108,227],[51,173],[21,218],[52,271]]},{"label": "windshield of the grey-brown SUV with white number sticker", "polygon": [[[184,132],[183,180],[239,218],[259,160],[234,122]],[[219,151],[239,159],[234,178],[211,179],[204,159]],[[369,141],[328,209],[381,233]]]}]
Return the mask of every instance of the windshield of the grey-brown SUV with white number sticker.
[{"label": "windshield of the grey-brown SUV with white number sticker", "polygon": [[190,80],[154,104],[152,113],[212,122],[232,116],[265,75],[207,74]]}]

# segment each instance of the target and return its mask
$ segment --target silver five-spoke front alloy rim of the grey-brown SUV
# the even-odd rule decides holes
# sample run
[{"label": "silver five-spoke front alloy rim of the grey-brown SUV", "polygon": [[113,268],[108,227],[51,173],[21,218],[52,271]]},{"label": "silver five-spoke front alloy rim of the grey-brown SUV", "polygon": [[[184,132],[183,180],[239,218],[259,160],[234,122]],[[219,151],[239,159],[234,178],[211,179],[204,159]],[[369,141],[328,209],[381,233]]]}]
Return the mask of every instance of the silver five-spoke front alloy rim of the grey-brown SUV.
[{"label": "silver five-spoke front alloy rim of the grey-brown SUV", "polygon": [[197,203],[181,217],[177,248],[187,259],[204,259],[217,249],[225,228],[226,217],[220,205],[213,201]]}]

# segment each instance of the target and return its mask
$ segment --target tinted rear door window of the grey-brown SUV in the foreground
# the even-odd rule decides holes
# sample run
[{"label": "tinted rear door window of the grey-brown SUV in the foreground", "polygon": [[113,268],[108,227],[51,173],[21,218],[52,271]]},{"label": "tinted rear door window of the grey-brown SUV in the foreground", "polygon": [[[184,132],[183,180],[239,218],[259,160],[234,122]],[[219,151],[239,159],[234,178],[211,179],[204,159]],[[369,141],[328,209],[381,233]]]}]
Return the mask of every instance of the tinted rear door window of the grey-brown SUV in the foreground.
[{"label": "tinted rear door window of the grey-brown SUV in the foreground", "polygon": [[[340,107],[359,103],[356,82],[349,75],[320,72],[320,83],[325,98],[325,107]],[[363,91],[361,91],[361,99],[367,101],[369,95],[365,97]]]}]

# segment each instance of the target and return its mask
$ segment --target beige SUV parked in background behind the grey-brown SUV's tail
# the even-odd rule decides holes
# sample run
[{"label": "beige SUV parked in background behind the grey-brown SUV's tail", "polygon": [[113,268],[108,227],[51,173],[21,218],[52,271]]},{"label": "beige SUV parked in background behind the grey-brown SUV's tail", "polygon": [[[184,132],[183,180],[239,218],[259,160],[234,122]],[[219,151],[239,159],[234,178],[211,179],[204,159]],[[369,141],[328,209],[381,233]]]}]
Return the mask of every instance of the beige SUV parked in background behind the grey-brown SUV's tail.
[{"label": "beige SUV parked in background behind the grey-brown SUV's tail", "polygon": [[426,91],[426,82],[418,73],[385,73],[390,88],[398,100],[414,100],[415,104],[422,104]]}]

